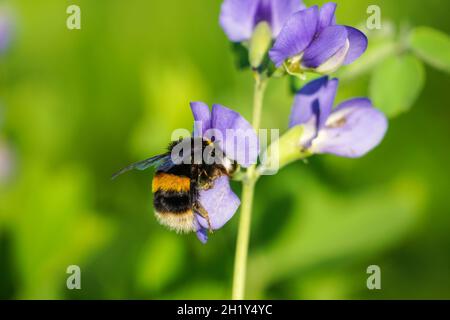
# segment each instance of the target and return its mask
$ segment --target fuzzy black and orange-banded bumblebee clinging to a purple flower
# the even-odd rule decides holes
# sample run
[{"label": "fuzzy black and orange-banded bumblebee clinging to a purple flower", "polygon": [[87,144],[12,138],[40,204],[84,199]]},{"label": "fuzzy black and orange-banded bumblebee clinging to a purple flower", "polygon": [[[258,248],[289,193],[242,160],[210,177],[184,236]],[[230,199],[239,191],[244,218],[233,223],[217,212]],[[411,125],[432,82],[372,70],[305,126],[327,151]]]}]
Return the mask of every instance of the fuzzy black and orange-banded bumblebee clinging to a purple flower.
[{"label": "fuzzy black and orange-banded bumblebee clinging to a purple flower", "polygon": [[213,141],[189,137],[172,142],[166,153],[125,167],[112,178],[149,167],[156,168],[152,193],[157,220],[171,230],[188,233],[196,231],[198,213],[212,231],[208,212],[199,201],[200,191],[213,188],[218,177],[233,174],[237,163],[226,158]]}]

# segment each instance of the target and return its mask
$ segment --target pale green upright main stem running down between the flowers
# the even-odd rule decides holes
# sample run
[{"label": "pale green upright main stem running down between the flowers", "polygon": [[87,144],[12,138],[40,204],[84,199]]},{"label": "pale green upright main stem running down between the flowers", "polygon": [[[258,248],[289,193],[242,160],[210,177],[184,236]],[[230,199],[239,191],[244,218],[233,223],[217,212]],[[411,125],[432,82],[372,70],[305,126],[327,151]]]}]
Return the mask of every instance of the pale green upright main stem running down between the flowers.
[{"label": "pale green upright main stem running down between the flowers", "polygon": [[[253,96],[253,128],[258,132],[261,124],[261,112],[263,107],[266,79],[255,73],[255,88]],[[256,164],[248,168],[243,180],[241,199],[241,218],[236,243],[236,256],[234,260],[233,300],[244,299],[245,279],[247,271],[248,244],[250,241],[250,226],[253,207],[253,195],[257,180]]]}]

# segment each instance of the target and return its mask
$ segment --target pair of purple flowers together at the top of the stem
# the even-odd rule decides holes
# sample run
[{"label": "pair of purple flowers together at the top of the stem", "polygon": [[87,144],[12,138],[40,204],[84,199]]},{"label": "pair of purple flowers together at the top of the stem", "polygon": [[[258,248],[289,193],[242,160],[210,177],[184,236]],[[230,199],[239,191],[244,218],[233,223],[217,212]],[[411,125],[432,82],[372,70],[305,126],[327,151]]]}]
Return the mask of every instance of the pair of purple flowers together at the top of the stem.
[{"label": "pair of purple flowers together at the top of the stem", "polygon": [[337,25],[336,4],[305,8],[299,0],[225,0],[220,22],[233,42],[247,41],[260,23],[270,26],[275,43],[269,56],[291,74],[329,74],[355,61],[367,49],[359,30]]}]

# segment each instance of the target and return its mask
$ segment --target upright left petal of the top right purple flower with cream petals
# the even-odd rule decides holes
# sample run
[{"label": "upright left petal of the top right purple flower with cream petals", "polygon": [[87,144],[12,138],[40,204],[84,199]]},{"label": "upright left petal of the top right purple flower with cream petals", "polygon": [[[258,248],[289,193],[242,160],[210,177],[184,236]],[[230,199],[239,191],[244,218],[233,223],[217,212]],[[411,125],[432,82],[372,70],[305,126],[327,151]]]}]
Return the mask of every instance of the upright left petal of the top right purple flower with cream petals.
[{"label": "upright left petal of the top right purple flower with cream petals", "polygon": [[318,22],[317,6],[296,12],[287,20],[269,51],[270,59],[277,67],[286,59],[302,53],[309,46],[316,34]]}]

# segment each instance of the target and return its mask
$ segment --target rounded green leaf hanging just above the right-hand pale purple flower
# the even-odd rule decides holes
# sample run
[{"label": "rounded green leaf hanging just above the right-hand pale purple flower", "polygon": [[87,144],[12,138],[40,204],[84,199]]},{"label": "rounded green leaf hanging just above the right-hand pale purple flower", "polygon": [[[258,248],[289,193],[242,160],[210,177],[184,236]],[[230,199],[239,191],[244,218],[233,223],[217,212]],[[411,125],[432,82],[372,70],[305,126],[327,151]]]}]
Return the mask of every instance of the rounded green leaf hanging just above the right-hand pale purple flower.
[{"label": "rounded green leaf hanging just above the right-hand pale purple flower", "polygon": [[370,97],[377,108],[392,118],[411,108],[424,82],[425,70],[420,60],[411,54],[394,56],[372,75]]}]

